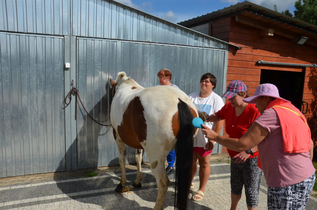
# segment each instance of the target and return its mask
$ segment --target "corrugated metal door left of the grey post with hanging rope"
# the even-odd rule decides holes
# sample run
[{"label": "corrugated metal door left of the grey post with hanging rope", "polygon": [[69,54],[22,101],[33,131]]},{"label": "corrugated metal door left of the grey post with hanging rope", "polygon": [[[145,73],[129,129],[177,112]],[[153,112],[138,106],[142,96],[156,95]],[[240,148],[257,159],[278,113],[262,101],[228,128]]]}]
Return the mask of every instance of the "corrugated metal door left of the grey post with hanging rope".
[{"label": "corrugated metal door left of the grey post with hanging rope", "polygon": [[65,170],[63,47],[0,33],[0,177]]}]

